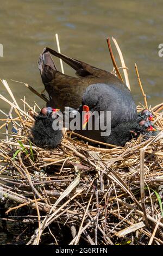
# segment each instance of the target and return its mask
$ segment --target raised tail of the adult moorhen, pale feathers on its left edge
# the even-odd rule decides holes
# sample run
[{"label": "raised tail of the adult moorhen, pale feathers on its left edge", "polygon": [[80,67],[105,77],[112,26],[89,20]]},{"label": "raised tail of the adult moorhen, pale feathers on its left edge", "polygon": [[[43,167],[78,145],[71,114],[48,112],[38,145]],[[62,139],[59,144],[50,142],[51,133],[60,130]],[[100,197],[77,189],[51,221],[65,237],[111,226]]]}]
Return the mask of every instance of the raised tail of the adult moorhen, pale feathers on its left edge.
[{"label": "raised tail of the adult moorhen, pale feathers on its left edge", "polygon": [[53,62],[51,54],[49,52],[43,52],[40,54],[38,66],[40,70],[40,75],[43,83],[48,83],[53,79],[54,71],[57,71],[57,68]]}]

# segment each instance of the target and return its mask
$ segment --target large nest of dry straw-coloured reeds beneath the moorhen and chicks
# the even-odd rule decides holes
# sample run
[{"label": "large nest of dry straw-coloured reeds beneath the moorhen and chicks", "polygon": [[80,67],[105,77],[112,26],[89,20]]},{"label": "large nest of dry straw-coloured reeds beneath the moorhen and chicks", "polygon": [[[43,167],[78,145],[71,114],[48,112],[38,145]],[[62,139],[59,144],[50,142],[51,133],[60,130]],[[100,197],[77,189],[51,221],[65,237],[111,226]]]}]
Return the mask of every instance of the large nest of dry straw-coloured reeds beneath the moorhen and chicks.
[{"label": "large nest of dry straw-coloured reeds beneath the moorhen and chicks", "polygon": [[[113,59],[109,39],[108,46]],[[122,66],[126,77],[124,61]],[[147,100],[135,68],[145,99],[145,106],[137,106],[141,111]],[[0,200],[3,220],[26,224],[18,237],[27,245],[39,245],[46,236],[51,237],[46,244],[52,245],[162,245],[163,103],[150,107],[160,130],[155,138],[140,136],[125,147],[104,148],[65,132],[61,144],[49,150],[29,139],[39,106],[22,100],[20,107],[8,83],[2,83],[12,100],[0,95],[10,105],[0,127],[5,127]]]}]

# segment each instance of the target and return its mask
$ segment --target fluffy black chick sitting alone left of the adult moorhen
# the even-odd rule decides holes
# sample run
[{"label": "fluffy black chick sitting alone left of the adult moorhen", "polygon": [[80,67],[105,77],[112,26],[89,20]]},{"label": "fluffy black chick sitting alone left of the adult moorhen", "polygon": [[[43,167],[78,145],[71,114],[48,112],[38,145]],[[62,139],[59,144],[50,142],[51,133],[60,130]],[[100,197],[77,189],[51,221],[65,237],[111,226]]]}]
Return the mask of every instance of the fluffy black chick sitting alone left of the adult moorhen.
[{"label": "fluffy black chick sitting alone left of the adult moorhen", "polygon": [[62,130],[54,130],[53,121],[57,119],[59,109],[44,107],[39,115],[35,116],[32,127],[32,141],[38,147],[56,148],[62,139]]}]

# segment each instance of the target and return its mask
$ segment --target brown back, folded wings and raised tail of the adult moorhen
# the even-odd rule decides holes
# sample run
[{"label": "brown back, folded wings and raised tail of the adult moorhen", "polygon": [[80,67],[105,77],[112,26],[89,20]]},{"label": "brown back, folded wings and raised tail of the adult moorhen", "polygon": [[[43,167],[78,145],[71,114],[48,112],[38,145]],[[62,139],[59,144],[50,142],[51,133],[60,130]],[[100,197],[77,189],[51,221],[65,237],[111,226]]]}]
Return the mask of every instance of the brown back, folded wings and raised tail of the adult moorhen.
[{"label": "brown back, folded wings and raised tail of the adult moorhen", "polygon": [[[67,76],[59,72],[53,63],[50,53],[61,58],[66,64],[76,70],[76,75],[79,78]],[[82,103],[83,93],[86,88],[92,84],[105,84],[110,87],[110,93],[114,93],[117,89],[115,93],[117,95],[122,94],[122,97],[126,94],[124,101],[129,100],[128,105],[131,103],[129,89],[119,80],[119,78],[106,70],[95,68],[94,66],[67,57],[50,48],[45,48],[40,55],[39,69],[42,82],[45,84],[45,88],[49,93],[50,101],[48,105],[51,107],[60,108],[62,111],[64,111],[65,106],[78,108]],[[111,89],[112,87],[114,87],[115,90]],[[103,90],[104,88],[101,88],[101,91]],[[120,90],[119,93],[118,90]],[[116,95],[114,95],[114,98],[116,98]]]}]

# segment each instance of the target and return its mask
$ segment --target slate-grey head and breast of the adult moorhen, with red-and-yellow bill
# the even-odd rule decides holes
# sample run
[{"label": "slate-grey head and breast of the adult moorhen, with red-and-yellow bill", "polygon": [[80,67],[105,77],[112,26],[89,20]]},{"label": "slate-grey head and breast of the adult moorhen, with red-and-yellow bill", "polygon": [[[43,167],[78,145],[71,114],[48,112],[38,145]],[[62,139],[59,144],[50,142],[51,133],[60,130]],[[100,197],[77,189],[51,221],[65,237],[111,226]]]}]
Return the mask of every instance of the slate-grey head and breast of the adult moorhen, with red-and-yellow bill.
[{"label": "slate-grey head and breast of the adult moorhen, with red-and-yellow bill", "polygon": [[[101,135],[101,132],[104,132],[101,124],[112,129],[118,124],[136,121],[137,111],[133,97],[129,90],[124,93],[123,86],[121,83],[118,86],[101,83],[87,87],[82,97],[82,106],[79,107],[82,125],[76,132],[95,141],[105,142],[104,136]],[[82,116],[83,111],[85,115]],[[101,114],[108,112],[111,113],[109,120],[106,115],[102,117]],[[100,114],[100,119],[98,116],[94,117],[95,113]]]}]

